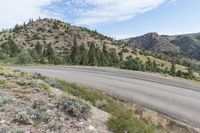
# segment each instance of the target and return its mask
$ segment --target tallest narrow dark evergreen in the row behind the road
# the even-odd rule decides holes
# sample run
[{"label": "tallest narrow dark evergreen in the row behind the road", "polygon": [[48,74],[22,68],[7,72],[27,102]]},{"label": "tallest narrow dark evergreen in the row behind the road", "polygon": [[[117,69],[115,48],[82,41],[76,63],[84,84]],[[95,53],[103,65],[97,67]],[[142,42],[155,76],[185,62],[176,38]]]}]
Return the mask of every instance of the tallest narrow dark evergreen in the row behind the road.
[{"label": "tallest narrow dark evergreen in the row behind the road", "polygon": [[78,56],[78,43],[76,41],[76,38],[74,38],[74,45],[71,49],[71,61],[74,65],[78,65],[79,64],[79,56]]}]

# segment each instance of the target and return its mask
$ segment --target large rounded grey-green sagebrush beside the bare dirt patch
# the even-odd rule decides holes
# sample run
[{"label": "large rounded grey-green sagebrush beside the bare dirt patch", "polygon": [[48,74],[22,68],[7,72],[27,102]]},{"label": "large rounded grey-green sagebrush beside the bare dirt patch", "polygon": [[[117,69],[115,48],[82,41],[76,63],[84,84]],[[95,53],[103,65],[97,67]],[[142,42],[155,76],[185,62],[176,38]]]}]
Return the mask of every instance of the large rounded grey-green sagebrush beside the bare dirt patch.
[{"label": "large rounded grey-green sagebrush beside the bare dirt patch", "polygon": [[87,119],[90,116],[90,105],[80,99],[65,99],[59,104],[59,107],[72,117]]}]

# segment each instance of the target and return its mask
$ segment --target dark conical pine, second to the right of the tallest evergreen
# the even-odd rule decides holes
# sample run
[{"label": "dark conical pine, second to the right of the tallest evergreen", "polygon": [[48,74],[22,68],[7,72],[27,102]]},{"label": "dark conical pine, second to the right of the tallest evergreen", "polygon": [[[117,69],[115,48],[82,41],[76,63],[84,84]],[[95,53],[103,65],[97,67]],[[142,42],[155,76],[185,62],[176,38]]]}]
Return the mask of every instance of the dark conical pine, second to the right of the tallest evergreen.
[{"label": "dark conical pine, second to the right of the tallest evergreen", "polygon": [[88,57],[89,57],[89,60],[88,60],[89,65],[91,65],[91,66],[97,66],[98,65],[98,62],[97,62],[97,59],[96,59],[96,54],[95,54],[95,44],[93,42],[90,45]]}]

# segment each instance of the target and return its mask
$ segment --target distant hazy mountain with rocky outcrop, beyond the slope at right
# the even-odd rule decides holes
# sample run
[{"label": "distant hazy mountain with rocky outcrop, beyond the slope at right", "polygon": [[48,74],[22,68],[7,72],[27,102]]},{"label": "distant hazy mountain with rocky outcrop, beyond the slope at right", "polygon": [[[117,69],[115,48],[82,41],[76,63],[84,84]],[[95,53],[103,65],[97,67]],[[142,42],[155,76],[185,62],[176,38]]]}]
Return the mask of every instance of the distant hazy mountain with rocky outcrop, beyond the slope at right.
[{"label": "distant hazy mountain with rocky outcrop, beyond the slope at right", "polygon": [[124,40],[128,46],[200,61],[200,33],[176,36],[147,33]]}]

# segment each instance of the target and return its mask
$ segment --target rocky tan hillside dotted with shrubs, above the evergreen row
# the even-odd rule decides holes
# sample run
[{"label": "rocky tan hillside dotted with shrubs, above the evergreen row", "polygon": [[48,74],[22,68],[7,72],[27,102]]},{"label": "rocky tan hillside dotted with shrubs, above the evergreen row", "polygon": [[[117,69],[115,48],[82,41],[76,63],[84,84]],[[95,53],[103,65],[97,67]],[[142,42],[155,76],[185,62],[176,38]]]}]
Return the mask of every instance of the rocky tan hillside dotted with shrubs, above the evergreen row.
[{"label": "rocky tan hillside dotted with shrubs, above the evergreen row", "polygon": [[90,42],[102,46],[102,44],[113,45],[111,38],[91,31],[86,28],[71,26],[70,24],[54,20],[39,19],[22,26],[16,25],[14,29],[0,33],[0,43],[6,42],[11,37],[21,48],[34,47],[37,42],[44,48],[51,44],[57,53],[62,54],[69,50],[74,43],[88,45]]}]

